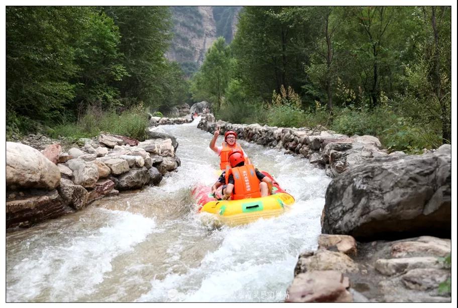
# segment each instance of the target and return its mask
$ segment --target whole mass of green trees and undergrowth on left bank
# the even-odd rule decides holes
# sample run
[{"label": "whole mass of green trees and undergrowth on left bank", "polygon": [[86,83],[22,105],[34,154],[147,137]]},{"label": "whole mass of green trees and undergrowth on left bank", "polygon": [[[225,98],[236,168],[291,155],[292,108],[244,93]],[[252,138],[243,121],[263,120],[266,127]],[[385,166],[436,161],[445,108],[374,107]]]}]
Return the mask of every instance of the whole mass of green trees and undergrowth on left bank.
[{"label": "whole mass of green trees and undergrowth on left bank", "polygon": [[187,98],[182,70],[164,57],[167,7],[7,7],[6,30],[7,137]]}]

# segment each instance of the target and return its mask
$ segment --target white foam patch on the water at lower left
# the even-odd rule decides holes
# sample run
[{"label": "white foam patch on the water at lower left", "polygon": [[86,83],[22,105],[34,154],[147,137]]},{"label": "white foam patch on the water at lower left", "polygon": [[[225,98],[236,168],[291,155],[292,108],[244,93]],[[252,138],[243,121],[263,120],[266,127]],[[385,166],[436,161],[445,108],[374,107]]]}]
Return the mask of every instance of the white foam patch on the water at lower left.
[{"label": "white foam patch on the water at lower left", "polygon": [[105,226],[88,231],[75,224],[58,241],[53,241],[48,233],[35,235],[33,245],[38,247],[7,274],[11,278],[7,301],[40,301],[37,296],[42,292],[48,293],[49,301],[77,300],[103,280],[103,274],[111,270],[113,258],[132,250],[155,228],[153,219],[140,215],[106,209],[93,211],[105,217]]}]

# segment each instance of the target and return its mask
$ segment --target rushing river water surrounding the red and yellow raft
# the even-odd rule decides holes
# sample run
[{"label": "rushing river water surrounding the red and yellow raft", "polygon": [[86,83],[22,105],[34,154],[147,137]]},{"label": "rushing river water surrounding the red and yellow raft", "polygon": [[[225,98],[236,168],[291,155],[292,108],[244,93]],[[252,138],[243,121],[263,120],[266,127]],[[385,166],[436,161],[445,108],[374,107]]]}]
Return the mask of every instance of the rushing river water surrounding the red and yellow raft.
[{"label": "rushing river water surrounding the red and yellow raft", "polygon": [[181,166],[158,186],[8,233],[7,301],[283,301],[299,253],[317,247],[330,179],[305,159],[240,141],[296,203],[274,219],[215,228],[190,196],[217,178],[199,119],[161,126],[177,137]]}]

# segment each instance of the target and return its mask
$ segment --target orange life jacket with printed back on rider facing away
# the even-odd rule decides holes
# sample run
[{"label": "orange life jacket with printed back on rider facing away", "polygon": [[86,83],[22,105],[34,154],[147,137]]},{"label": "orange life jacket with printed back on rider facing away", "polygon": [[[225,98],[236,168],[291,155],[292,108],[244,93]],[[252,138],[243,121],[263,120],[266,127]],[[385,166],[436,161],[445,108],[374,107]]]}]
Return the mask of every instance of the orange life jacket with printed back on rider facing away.
[{"label": "orange life jacket with printed back on rider facing away", "polygon": [[259,179],[256,176],[253,165],[244,165],[241,167],[230,168],[226,171],[226,183],[229,181],[229,175],[234,177],[234,189],[231,198],[233,200],[245,198],[258,198],[261,196]]}]

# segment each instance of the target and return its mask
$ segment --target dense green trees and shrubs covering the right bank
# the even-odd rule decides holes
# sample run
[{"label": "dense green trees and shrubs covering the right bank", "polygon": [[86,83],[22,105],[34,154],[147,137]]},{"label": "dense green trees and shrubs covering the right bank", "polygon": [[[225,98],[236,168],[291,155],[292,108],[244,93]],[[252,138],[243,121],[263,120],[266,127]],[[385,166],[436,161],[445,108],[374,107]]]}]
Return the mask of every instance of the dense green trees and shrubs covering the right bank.
[{"label": "dense green trees and shrubs covering the right bank", "polygon": [[[451,142],[450,23],[449,7],[244,7],[191,92],[224,120],[319,124],[418,153]],[[218,63],[222,84],[205,72]]]}]

